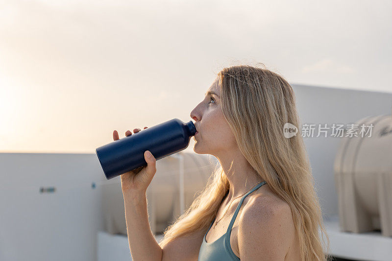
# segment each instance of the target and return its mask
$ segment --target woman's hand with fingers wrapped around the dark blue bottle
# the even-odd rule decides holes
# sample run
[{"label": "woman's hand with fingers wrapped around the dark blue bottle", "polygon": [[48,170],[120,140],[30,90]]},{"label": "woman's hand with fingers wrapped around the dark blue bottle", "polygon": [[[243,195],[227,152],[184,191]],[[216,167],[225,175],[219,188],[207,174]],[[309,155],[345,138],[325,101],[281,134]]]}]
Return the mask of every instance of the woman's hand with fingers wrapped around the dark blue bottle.
[{"label": "woman's hand with fingers wrapped around the dark blue bottle", "polygon": [[[147,129],[147,127],[144,127],[144,129]],[[137,133],[141,129],[134,129],[133,132]],[[132,135],[132,132],[127,130],[125,132],[125,136],[130,136]],[[119,140],[119,133],[117,130],[113,131],[113,140],[117,141]],[[134,170],[125,172],[121,175],[121,188],[123,190],[123,194],[129,194],[129,193],[140,193],[143,192],[145,193],[147,191],[148,185],[151,183],[152,178],[155,175],[156,172],[156,160],[155,157],[151,155],[149,158],[148,155],[150,152],[146,150],[144,152],[144,159],[147,162],[147,166],[141,166],[138,167]]]}]

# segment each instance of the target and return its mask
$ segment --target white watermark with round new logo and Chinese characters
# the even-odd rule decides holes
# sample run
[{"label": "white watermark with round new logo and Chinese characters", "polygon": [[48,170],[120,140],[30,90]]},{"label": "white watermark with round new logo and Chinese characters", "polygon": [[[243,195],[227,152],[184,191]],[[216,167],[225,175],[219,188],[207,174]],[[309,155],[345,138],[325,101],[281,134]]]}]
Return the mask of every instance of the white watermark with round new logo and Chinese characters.
[{"label": "white watermark with round new logo and Chinese characters", "polygon": [[[323,125],[323,126],[321,126]],[[327,124],[302,124],[301,126],[301,137],[303,138],[318,138],[322,135],[322,137],[371,137],[371,130],[373,128],[373,123],[370,125],[365,124],[337,124],[333,123],[330,127],[327,127]],[[330,131],[329,131],[330,130]],[[287,122],[283,126],[283,135],[285,138],[291,138],[296,136],[298,132],[298,128]],[[315,132],[317,136],[315,136]],[[367,136],[368,135],[368,136]]]}]

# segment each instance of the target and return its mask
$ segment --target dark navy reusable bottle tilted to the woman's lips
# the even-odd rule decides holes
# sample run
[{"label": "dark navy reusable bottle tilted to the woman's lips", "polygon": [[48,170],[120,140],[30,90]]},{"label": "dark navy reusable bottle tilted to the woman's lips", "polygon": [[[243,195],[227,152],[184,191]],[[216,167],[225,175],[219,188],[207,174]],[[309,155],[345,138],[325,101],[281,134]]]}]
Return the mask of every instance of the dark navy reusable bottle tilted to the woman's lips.
[{"label": "dark navy reusable bottle tilted to the woman's lips", "polygon": [[140,166],[147,166],[144,152],[150,151],[156,160],[184,150],[196,133],[195,124],[171,119],[148,127],[120,140],[96,148],[106,179],[112,179]]}]

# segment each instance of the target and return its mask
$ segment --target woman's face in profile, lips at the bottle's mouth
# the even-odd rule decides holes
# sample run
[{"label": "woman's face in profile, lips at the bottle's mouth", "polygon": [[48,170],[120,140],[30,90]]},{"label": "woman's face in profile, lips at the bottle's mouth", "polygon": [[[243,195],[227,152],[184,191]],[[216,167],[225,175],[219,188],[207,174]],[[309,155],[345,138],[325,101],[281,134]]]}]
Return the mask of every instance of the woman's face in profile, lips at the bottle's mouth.
[{"label": "woman's face in profile, lips at the bottle's mouth", "polygon": [[[209,92],[214,92],[211,94]],[[194,151],[198,154],[211,154],[216,157],[236,146],[234,135],[223,117],[221,109],[221,87],[218,78],[207,90],[202,100],[191,112],[197,133]]]}]

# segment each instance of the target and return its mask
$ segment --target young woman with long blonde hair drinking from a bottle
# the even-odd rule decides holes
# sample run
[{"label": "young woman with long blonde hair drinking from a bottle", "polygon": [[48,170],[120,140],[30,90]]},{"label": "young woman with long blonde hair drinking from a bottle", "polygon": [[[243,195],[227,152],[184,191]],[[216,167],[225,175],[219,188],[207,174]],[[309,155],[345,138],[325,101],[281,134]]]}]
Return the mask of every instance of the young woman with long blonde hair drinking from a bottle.
[{"label": "young woman with long blonde hair drinking from a bottle", "polygon": [[[289,83],[265,68],[224,68],[190,116],[197,130],[194,151],[214,155],[220,166],[159,244],[146,199],[154,156],[146,151],[147,166],[121,175],[132,259],[329,259],[319,238],[320,229],[329,249],[303,139],[299,132],[283,134],[286,122],[299,128]],[[113,139],[119,139],[117,131]]]}]

